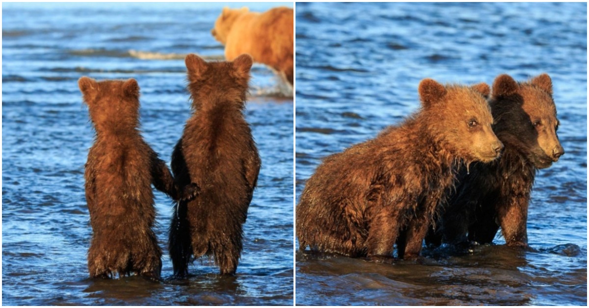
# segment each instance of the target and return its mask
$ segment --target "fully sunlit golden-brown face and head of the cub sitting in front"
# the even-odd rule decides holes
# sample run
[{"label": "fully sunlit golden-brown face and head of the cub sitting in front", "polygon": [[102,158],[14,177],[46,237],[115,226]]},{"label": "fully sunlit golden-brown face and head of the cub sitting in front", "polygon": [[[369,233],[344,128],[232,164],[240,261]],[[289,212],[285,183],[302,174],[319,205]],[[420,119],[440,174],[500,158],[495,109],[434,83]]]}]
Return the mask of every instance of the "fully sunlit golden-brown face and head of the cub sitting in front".
[{"label": "fully sunlit golden-brown face and head of the cub sitting in front", "polygon": [[422,112],[429,132],[452,155],[466,163],[488,163],[501,155],[503,144],[491,128],[489,86],[442,85],[425,79],[419,84]]}]

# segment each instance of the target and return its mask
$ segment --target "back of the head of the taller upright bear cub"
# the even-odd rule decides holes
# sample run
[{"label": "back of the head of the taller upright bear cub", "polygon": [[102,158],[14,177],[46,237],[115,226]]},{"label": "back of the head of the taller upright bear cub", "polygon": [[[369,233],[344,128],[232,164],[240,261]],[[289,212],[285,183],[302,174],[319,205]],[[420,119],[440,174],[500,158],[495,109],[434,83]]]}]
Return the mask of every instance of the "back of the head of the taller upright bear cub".
[{"label": "back of the head of the taller upright bear cub", "polygon": [[188,90],[195,109],[231,103],[243,108],[249,88],[253,59],[248,54],[233,61],[206,62],[194,54],[186,56]]}]

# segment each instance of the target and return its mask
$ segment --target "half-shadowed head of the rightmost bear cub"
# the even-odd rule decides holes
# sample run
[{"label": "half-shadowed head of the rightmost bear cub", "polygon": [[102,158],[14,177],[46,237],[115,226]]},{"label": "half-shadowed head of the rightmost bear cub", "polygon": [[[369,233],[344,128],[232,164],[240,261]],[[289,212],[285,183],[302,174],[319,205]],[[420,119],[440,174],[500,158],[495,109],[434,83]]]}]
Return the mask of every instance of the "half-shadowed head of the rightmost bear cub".
[{"label": "half-shadowed head of the rightmost bear cub", "polygon": [[560,122],[548,74],[519,83],[509,75],[499,75],[493,82],[489,104],[499,139],[522,153],[535,167],[550,167],[564,154],[558,141]]}]

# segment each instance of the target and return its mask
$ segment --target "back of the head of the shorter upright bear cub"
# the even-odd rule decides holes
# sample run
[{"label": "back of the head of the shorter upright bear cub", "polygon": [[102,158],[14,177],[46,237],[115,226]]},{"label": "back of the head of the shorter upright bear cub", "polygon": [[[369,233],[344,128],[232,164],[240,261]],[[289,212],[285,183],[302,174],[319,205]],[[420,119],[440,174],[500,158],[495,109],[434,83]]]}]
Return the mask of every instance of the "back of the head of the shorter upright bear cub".
[{"label": "back of the head of the shorter upright bear cub", "polygon": [[139,119],[139,85],[134,79],[78,80],[90,120],[97,131],[136,128]]}]

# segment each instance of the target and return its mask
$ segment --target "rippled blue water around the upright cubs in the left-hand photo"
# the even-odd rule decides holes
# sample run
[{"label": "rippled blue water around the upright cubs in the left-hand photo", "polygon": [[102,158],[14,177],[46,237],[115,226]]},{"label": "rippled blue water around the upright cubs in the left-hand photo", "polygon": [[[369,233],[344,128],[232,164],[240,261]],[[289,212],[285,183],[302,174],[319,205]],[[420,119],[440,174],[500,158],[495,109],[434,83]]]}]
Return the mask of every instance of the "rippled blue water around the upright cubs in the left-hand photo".
[{"label": "rippled blue water around the upright cubs in the left-hand photo", "polygon": [[[164,256],[162,283],[88,278],[84,163],[94,133],[77,80],[136,78],[143,136],[169,163],[190,115],[184,55],[223,58],[210,35],[222,7],[2,5],[2,304],[293,303],[293,99],[257,64],[246,119],[263,163],[237,276],[196,261],[189,279],[169,280]],[[167,247],[171,201],[155,196],[156,233]]]}]

